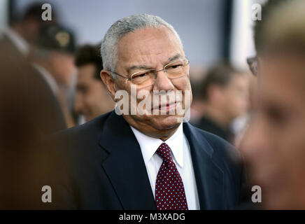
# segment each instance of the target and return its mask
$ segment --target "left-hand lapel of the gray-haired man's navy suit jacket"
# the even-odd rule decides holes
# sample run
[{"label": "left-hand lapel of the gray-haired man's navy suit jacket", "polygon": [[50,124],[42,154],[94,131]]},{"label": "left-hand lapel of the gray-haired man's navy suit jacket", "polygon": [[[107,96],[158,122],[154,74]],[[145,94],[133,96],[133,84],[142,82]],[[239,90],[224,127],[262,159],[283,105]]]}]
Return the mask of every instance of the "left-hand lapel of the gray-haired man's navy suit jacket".
[{"label": "left-hand lapel of the gray-haired man's navy suit jacket", "polygon": [[122,116],[111,113],[99,144],[109,153],[101,166],[123,209],[156,209],[141,148]]}]

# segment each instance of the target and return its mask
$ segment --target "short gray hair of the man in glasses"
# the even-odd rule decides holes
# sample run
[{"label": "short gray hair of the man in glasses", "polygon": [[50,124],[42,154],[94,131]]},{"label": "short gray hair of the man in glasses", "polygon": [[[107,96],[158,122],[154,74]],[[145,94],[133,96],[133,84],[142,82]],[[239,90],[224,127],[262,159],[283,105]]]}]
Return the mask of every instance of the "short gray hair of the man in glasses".
[{"label": "short gray hair of the man in glasses", "polygon": [[[165,22],[156,15],[129,15],[115,22],[106,32],[104,40],[101,43],[101,58],[103,59],[104,69],[115,72],[118,56],[118,42],[122,36],[134,32],[137,29],[147,27],[159,28],[162,26],[170,29],[182,46],[180,36],[176,30],[173,29],[168,22]],[[114,73],[112,73],[112,76],[115,78]]]}]

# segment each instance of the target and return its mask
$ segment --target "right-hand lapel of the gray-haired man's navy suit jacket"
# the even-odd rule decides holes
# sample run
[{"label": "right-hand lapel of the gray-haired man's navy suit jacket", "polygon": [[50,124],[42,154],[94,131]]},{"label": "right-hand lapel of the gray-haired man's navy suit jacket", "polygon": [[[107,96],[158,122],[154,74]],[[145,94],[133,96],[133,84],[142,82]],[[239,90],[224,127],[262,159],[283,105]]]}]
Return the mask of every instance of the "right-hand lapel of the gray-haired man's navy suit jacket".
[{"label": "right-hand lapel of the gray-haired man's navy suit jacket", "polygon": [[224,174],[213,161],[213,148],[188,123],[183,132],[190,144],[194,174],[201,209],[224,209]]}]

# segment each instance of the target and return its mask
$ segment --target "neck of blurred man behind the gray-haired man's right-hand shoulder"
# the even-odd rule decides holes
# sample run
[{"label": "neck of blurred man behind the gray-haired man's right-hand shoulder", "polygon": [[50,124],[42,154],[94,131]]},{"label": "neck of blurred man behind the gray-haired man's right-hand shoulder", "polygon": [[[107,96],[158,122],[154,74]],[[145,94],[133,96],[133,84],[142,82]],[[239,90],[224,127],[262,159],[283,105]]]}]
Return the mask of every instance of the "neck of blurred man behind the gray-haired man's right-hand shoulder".
[{"label": "neck of blurred man behind the gray-haired man's right-hand shoulder", "polygon": [[231,123],[231,119],[227,118],[222,110],[215,109],[213,106],[208,104],[205,106],[204,116],[210,118],[224,129],[227,129]]}]

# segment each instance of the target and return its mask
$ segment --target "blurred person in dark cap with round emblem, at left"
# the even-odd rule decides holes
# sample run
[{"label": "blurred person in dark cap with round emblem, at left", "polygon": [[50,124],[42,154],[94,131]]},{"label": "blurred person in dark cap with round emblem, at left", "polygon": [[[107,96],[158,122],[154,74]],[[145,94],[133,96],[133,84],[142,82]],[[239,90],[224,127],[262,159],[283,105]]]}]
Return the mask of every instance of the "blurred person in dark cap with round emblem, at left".
[{"label": "blurred person in dark cap with round emblem, at left", "polygon": [[47,24],[41,27],[30,59],[58,98],[66,124],[75,125],[71,111],[76,82],[74,56],[75,39],[71,31],[62,25]]}]

